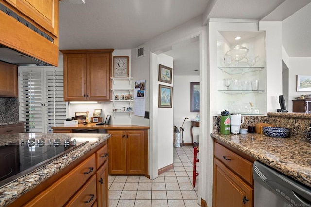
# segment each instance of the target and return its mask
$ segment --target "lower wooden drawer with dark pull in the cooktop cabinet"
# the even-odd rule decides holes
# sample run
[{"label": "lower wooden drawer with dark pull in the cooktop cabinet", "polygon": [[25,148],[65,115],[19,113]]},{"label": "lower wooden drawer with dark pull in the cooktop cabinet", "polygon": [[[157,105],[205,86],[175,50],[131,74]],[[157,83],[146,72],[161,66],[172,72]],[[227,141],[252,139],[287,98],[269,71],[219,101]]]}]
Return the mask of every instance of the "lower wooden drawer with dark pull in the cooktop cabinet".
[{"label": "lower wooden drawer with dark pull in the cooktop cabinet", "polygon": [[96,175],[93,175],[65,207],[92,207],[94,201],[96,201]]}]

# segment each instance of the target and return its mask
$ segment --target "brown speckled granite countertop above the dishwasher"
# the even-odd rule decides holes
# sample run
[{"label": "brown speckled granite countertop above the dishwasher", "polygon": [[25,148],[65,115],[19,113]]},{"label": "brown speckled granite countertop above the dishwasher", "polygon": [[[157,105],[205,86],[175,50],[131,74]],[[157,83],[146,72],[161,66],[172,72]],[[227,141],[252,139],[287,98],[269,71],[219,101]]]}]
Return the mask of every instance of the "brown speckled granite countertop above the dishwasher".
[{"label": "brown speckled granite countertop above the dishwasher", "polygon": [[274,138],[256,133],[212,133],[211,137],[311,187],[311,144],[307,139]]}]

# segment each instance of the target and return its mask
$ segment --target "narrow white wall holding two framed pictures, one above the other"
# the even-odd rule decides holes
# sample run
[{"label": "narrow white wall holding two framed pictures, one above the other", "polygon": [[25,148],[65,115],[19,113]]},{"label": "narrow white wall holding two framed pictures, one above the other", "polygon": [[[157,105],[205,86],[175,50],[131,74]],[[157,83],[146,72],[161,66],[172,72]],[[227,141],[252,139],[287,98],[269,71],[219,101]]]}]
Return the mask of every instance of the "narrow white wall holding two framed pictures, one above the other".
[{"label": "narrow white wall holding two framed pictures, one above the other", "polygon": [[[173,58],[164,54],[157,56],[157,63],[173,68]],[[174,83],[174,68],[172,71],[172,84],[158,82],[158,84],[173,86]],[[173,94],[175,93],[173,87]],[[173,96],[172,96],[173,97]],[[156,98],[155,98],[156,99]],[[155,101],[154,99],[154,101]],[[157,101],[158,102],[158,99]],[[172,100],[172,108],[158,108],[158,168],[161,169],[170,164],[173,164],[173,117],[174,117],[174,98]]]}]

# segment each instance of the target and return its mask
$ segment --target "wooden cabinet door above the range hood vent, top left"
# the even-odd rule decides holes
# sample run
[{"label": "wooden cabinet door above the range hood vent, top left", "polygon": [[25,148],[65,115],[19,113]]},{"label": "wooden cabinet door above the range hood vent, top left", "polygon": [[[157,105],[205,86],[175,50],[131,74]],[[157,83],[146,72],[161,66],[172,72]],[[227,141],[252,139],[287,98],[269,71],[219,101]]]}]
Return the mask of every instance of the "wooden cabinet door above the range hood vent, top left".
[{"label": "wooden cabinet door above the range hood vent, top left", "polygon": [[58,36],[58,0],[5,1],[54,36]]}]

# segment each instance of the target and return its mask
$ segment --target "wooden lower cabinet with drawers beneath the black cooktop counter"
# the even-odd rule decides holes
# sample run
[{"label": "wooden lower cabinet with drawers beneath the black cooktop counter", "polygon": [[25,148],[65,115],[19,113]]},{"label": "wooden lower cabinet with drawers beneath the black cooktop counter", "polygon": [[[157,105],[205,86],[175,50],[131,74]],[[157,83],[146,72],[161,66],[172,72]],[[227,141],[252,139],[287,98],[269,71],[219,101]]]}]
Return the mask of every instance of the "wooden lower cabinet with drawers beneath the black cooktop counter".
[{"label": "wooden lower cabinet with drawers beneath the black cooktop counter", "polygon": [[[105,141],[100,149],[22,206],[108,207],[107,158]],[[12,203],[11,206],[18,205]]]}]

